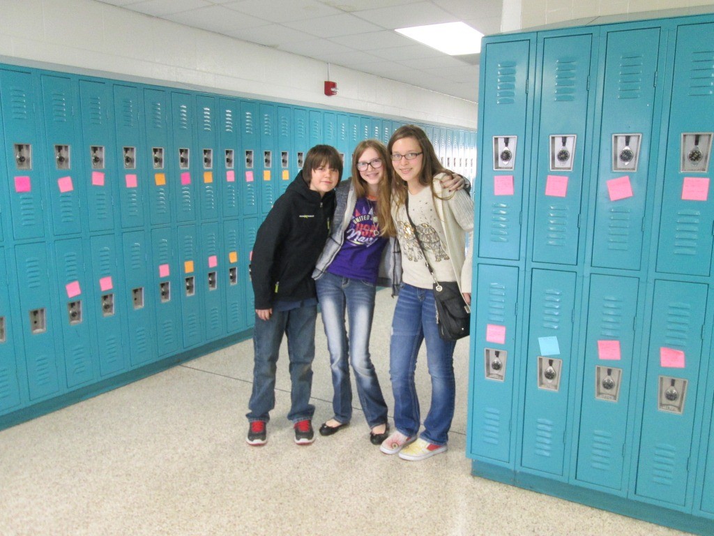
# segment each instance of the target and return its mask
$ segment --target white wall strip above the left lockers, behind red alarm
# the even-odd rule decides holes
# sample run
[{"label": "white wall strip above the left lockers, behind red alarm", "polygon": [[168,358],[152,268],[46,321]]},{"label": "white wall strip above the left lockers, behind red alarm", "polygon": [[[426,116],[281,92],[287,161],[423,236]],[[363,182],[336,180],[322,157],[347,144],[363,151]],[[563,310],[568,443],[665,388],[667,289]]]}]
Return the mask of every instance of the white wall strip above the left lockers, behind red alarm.
[{"label": "white wall strip above the left lockers, behind red alarm", "polygon": [[0,61],[476,128],[474,102],[94,0],[0,0]]}]

